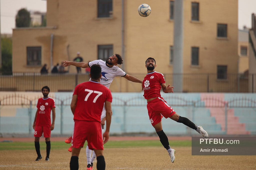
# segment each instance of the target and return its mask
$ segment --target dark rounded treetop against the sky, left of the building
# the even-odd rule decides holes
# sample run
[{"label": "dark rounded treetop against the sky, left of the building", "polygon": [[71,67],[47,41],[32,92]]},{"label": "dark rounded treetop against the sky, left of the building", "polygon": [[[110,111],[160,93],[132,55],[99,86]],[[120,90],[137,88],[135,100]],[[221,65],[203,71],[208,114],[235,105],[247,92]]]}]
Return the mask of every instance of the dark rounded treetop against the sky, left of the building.
[{"label": "dark rounded treetop against the sky, left of the building", "polygon": [[27,9],[22,8],[18,11],[16,15],[16,27],[29,27],[30,25],[30,13],[28,12]]}]

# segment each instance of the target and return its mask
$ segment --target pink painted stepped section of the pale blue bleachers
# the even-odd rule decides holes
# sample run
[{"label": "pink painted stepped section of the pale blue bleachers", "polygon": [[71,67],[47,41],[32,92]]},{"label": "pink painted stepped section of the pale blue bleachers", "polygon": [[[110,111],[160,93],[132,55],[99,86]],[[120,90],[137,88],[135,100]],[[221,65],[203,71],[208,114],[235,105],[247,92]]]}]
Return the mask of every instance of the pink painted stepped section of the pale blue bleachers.
[{"label": "pink painted stepped section of the pale blue bleachers", "polygon": [[[201,93],[201,101],[205,102],[206,108],[210,110],[210,115],[215,117],[216,123],[221,125],[221,130],[225,131],[225,105],[223,93]],[[213,100],[214,99],[214,100]],[[217,99],[217,100],[216,100]],[[218,106],[218,107],[216,107]],[[221,107],[221,108],[220,108]],[[234,116],[234,110],[228,109],[227,135],[249,135],[244,123],[239,123],[239,117]]]}]

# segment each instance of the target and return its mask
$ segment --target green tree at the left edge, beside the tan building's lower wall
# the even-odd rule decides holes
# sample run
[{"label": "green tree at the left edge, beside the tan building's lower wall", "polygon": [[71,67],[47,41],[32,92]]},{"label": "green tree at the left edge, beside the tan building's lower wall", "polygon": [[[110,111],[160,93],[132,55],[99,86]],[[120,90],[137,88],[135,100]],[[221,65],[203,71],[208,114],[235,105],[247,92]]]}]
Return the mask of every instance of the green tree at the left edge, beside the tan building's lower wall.
[{"label": "green tree at the left edge, beside the tan building's lower wall", "polygon": [[12,39],[3,37],[1,38],[2,45],[2,67],[0,68],[1,74],[12,74]]}]

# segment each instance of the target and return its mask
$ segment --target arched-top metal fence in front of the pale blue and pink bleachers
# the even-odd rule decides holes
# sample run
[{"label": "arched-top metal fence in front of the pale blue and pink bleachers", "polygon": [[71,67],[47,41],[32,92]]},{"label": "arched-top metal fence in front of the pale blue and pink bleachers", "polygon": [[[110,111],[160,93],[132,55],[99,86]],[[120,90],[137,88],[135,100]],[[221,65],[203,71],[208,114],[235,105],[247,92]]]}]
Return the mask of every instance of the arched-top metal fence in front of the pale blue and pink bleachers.
[{"label": "arched-top metal fence in front of the pale blue and pink bleachers", "polygon": [[[40,96],[41,97],[41,96]],[[39,97],[38,97],[39,98]],[[11,106],[17,107],[15,116],[0,112],[0,134],[33,134],[32,124],[38,98],[10,95],[0,99],[0,111]],[[219,98],[187,100],[182,97],[164,97],[167,103],[181,116],[196,125],[201,125],[210,136],[213,135],[256,135],[256,100]],[[73,115],[70,110],[71,97],[55,98],[56,120],[53,134],[71,134]],[[146,100],[141,94],[133,97],[113,96],[111,134],[153,133],[146,108]],[[11,113],[9,113],[11,115]],[[170,119],[162,119],[163,129],[168,135],[198,135],[195,130]]]}]

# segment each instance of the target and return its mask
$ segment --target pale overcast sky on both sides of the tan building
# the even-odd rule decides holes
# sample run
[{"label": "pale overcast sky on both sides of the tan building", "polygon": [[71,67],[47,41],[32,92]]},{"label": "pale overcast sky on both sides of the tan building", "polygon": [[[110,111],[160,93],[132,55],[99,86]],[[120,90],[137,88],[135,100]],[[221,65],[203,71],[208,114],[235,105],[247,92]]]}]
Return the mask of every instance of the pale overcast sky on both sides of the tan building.
[{"label": "pale overcast sky on both sides of the tan building", "polygon": [[[46,12],[46,0],[0,0],[1,34],[12,34],[15,15],[21,8]],[[251,28],[252,13],[256,14],[256,0],[238,0],[238,29],[244,25]]]}]

